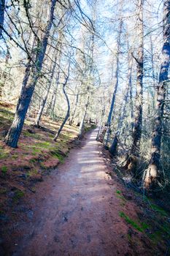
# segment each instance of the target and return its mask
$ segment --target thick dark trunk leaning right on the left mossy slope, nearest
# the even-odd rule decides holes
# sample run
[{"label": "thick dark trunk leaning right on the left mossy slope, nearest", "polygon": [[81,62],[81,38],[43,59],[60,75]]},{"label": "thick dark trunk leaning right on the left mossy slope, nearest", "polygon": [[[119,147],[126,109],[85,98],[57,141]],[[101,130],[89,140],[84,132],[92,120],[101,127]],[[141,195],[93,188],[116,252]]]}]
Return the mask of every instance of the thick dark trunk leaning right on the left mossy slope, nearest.
[{"label": "thick dark trunk leaning right on the left mossy slope, nearest", "polygon": [[53,23],[53,15],[54,15],[56,1],[57,0],[51,1],[50,17],[49,17],[49,20],[47,21],[45,34],[42,38],[42,42],[40,44],[39,50],[36,53],[36,65],[31,70],[32,75],[28,83],[25,83],[26,81],[26,75],[25,75],[25,78],[24,78],[25,80],[23,80],[23,87],[20,93],[20,99],[18,100],[18,106],[15,112],[15,117],[12,122],[12,126],[10,127],[9,132],[7,133],[7,136],[5,138],[5,143],[8,146],[11,146],[12,148],[16,148],[18,145],[18,139],[20,138],[20,132],[23,129],[23,123],[26,118],[26,113],[31,102],[31,97],[34,93],[36,82],[39,79],[39,75],[42,69],[42,64],[45,57],[45,51],[47,48],[47,41],[50,34],[51,26]]}]

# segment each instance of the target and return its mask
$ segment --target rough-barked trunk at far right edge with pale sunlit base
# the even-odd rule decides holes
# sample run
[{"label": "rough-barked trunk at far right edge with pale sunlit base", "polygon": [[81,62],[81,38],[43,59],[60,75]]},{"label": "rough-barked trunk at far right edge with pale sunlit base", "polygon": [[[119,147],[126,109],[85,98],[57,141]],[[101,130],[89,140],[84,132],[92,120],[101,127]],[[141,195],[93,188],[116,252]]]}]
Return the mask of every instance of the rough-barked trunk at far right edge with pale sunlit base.
[{"label": "rough-barked trunk at far right edge with pale sunlit base", "polygon": [[163,41],[163,60],[161,64],[157,91],[155,127],[152,132],[152,154],[150,165],[144,172],[143,178],[143,187],[147,189],[150,188],[150,185],[153,183],[153,181],[155,181],[155,178],[158,178],[162,170],[160,163],[162,120],[167,81],[169,80],[168,73],[170,61],[170,1],[164,1],[163,4]]}]

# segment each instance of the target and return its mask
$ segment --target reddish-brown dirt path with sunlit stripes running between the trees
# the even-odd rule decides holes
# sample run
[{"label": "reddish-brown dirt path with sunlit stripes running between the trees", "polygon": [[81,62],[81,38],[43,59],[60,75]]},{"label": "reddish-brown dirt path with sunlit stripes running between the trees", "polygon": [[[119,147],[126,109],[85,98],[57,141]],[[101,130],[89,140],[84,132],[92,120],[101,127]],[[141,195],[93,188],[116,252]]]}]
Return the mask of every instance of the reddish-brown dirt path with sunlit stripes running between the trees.
[{"label": "reddish-brown dirt path with sunlit stripes running between the trees", "polygon": [[96,132],[39,184],[31,198],[33,217],[12,255],[136,255],[119,217],[120,200],[99,155]]}]

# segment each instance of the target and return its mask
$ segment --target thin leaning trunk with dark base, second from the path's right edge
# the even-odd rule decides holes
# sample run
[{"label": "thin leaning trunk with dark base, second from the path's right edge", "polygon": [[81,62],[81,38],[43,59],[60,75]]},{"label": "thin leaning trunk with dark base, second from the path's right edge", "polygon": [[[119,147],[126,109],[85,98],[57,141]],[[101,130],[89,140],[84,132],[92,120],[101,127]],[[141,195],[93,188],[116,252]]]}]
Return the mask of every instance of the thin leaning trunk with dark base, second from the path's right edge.
[{"label": "thin leaning trunk with dark base, second from the path's right edge", "polygon": [[112,156],[115,156],[115,154],[117,153],[117,144],[118,144],[118,137],[120,135],[120,130],[123,126],[123,120],[125,118],[125,108],[128,102],[128,92],[129,89],[131,88],[131,71],[132,71],[132,65],[133,65],[133,59],[131,56],[131,52],[129,52],[128,55],[128,83],[127,86],[125,88],[125,96],[123,99],[123,107],[120,110],[120,119],[118,121],[118,125],[117,125],[117,132],[115,134],[115,138],[113,139],[112,142],[112,146],[109,148],[110,153],[112,154]]}]

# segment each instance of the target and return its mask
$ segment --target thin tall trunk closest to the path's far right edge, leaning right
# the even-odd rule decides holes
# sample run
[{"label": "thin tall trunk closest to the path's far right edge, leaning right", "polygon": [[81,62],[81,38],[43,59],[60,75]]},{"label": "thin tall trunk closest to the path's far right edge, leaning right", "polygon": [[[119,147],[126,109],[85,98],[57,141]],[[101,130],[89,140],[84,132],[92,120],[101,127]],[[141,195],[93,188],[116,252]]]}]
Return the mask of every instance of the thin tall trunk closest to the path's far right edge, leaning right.
[{"label": "thin tall trunk closest to the path's far right edge, leaning right", "polygon": [[113,109],[115,107],[115,98],[116,98],[116,94],[117,94],[117,87],[118,87],[118,81],[119,81],[119,65],[120,65],[120,41],[121,41],[121,34],[122,34],[122,27],[123,27],[123,20],[120,19],[120,28],[119,28],[119,34],[117,37],[117,55],[116,55],[116,70],[115,70],[115,86],[114,86],[114,91],[112,94],[112,102],[111,102],[111,106],[109,109],[109,116],[107,118],[107,131],[106,134],[104,136],[104,146],[107,146],[108,141],[109,141],[109,135],[110,135],[110,125],[111,125],[111,121],[112,121],[112,113],[113,113]]}]

